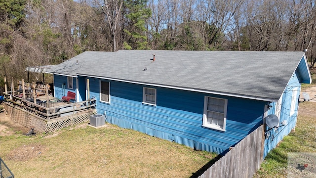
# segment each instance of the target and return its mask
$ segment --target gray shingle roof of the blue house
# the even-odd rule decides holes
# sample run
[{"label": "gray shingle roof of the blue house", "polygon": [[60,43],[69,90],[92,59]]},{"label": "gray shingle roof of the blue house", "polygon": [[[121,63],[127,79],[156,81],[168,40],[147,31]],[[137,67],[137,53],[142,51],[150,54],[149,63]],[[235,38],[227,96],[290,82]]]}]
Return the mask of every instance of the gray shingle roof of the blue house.
[{"label": "gray shingle roof of the blue house", "polygon": [[277,100],[303,56],[268,51],[86,51],[48,72]]}]

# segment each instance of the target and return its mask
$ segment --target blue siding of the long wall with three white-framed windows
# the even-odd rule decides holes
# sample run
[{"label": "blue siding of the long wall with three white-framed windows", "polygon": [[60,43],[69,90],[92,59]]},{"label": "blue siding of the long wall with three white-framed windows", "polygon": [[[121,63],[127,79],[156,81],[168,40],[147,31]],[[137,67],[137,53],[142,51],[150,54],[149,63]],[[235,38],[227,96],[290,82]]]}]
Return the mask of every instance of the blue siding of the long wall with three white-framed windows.
[{"label": "blue siding of the long wall with three white-framed windows", "polygon": [[[262,123],[267,102],[108,81],[111,103],[97,102],[98,114],[119,127],[175,141],[198,150],[228,151]],[[142,104],[143,87],[157,89],[157,106]],[[90,96],[100,101],[99,79],[90,78]],[[204,96],[228,99],[226,132],[202,127]]]}]

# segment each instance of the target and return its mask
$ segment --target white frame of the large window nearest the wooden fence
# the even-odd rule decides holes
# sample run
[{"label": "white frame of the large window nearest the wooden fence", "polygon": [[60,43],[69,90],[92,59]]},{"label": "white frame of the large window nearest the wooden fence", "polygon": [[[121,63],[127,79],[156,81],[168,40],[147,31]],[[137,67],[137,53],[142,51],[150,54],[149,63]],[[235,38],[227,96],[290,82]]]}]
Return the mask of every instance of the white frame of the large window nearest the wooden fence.
[{"label": "white frame of the large window nearest the wooden fence", "polygon": [[[218,126],[215,124],[210,124],[207,123],[207,105],[208,105],[208,98],[214,98],[214,99],[222,99],[224,100],[224,112],[222,114],[224,114],[224,118],[223,118],[223,126]],[[218,97],[211,97],[211,96],[205,96],[204,97],[204,111],[203,111],[203,123],[202,123],[202,127],[206,127],[206,128],[210,128],[210,129],[215,129],[215,130],[219,130],[219,131],[226,131],[226,120],[227,120],[227,103],[228,100],[224,99],[224,98],[218,98]],[[210,112],[214,112],[214,111],[210,111]]]}]

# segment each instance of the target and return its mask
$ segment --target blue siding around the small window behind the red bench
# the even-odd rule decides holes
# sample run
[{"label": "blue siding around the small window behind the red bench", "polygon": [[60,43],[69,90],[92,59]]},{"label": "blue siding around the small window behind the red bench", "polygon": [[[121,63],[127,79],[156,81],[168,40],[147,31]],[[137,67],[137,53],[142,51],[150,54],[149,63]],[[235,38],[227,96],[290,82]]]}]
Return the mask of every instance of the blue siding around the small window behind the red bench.
[{"label": "blue siding around the small window behind the red bench", "polygon": [[68,91],[72,91],[76,93],[77,88],[77,80],[73,78],[73,89],[67,88],[67,76],[54,75],[54,89],[55,89],[55,97],[61,99],[63,96],[67,95]]}]

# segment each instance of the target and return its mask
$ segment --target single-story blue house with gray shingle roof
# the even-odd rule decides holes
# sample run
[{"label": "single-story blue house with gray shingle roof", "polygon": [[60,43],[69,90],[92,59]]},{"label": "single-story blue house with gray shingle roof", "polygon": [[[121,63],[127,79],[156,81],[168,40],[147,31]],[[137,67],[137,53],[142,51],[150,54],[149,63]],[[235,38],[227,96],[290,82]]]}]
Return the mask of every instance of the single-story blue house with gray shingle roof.
[{"label": "single-story blue house with gray shingle roof", "polygon": [[94,96],[108,123],[222,154],[275,114],[285,126],[267,128],[266,155],[295,127],[301,83],[312,82],[304,52],[85,51],[48,72],[55,97]]}]

